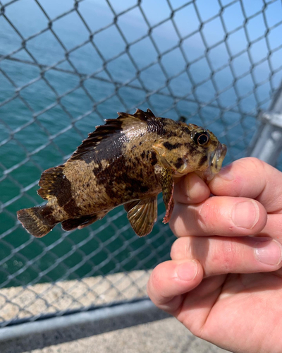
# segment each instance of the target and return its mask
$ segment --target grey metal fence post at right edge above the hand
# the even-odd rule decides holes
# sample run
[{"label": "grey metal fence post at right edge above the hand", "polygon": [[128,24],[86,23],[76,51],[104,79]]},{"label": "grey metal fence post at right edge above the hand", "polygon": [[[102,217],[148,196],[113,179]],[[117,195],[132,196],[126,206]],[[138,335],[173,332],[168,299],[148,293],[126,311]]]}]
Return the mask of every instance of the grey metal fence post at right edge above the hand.
[{"label": "grey metal fence post at right edge above the hand", "polygon": [[261,126],[255,135],[248,155],[275,165],[282,149],[282,82],[269,106],[259,113]]}]

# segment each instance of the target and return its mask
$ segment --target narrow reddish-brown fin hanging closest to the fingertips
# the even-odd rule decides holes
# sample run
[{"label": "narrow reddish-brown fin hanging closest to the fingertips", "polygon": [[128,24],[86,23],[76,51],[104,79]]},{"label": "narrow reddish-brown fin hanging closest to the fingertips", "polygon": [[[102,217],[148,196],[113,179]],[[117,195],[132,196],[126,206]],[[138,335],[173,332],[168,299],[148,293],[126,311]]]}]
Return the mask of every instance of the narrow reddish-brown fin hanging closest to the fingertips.
[{"label": "narrow reddish-brown fin hanging closest to the fingertips", "polygon": [[168,223],[171,219],[171,214],[174,207],[173,201],[173,188],[174,188],[174,180],[173,174],[174,170],[171,168],[161,167],[156,164],[155,166],[155,174],[159,184],[161,185],[161,189],[163,191],[163,200],[164,205],[166,206],[166,215],[164,216],[164,223]]}]

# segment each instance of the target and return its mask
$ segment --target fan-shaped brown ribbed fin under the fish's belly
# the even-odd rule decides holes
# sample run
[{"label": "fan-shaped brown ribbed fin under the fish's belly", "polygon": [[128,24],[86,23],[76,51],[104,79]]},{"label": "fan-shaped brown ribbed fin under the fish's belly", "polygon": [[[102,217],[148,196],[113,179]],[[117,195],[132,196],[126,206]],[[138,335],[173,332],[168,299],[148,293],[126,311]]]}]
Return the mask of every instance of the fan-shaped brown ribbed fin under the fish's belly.
[{"label": "fan-shaped brown ribbed fin under the fish's belly", "polygon": [[125,203],[128,220],[138,237],[144,237],[152,232],[154,222],[157,221],[157,196]]}]

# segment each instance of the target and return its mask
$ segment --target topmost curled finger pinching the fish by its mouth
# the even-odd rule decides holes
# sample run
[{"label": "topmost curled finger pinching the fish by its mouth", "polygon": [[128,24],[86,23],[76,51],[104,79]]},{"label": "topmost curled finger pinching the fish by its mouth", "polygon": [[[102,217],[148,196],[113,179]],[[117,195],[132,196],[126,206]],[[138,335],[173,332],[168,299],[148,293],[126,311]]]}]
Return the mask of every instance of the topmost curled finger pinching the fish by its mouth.
[{"label": "topmost curled finger pinching the fish by its mouth", "polygon": [[254,157],[236,160],[221,169],[209,189],[215,196],[254,198],[268,213],[282,213],[282,173]]}]

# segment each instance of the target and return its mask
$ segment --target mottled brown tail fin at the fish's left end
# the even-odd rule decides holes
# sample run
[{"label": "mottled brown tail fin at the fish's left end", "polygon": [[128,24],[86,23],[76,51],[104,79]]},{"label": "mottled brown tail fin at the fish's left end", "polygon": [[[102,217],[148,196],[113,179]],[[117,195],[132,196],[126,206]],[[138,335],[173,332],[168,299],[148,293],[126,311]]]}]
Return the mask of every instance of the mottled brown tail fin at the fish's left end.
[{"label": "mottled brown tail fin at the fish's left end", "polygon": [[27,232],[34,235],[37,238],[44,237],[51,231],[56,225],[50,224],[42,215],[42,210],[46,206],[25,208],[17,212],[18,220],[25,227]]}]

